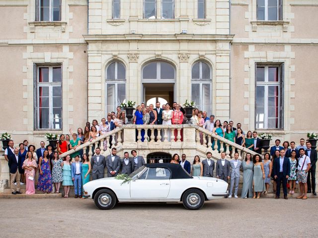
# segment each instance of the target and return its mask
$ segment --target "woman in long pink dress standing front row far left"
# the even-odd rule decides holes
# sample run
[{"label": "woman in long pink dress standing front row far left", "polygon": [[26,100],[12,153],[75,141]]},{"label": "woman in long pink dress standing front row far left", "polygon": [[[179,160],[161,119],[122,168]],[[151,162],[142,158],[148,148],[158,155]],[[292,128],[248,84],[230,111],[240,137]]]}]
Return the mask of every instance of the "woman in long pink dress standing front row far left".
[{"label": "woman in long pink dress standing front row far left", "polygon": [[24,176],[26,180],[25,194],[35,194],[34,176],[35,169],[38,168],[32,152],[27,153],[27,159],[24,160],[22,168],[24,169]]}]

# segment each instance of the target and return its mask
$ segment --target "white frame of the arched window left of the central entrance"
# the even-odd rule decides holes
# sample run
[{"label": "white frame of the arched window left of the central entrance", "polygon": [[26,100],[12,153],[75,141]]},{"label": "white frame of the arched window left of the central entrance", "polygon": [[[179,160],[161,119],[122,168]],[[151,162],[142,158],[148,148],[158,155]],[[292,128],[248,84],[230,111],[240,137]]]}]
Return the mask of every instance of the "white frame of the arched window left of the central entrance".
[{"label": "white frame of the arched window left of the central entrance", "polygon": [[[107,69],[108,67],[112,64],[115,63],[115,78],[113,79],[108,79],[107,78]],[[118,63],[120,63],[124,69],[125,69],[125,79],[118,79]],[[118,101],[118,84],[124,84],[125,85],[125,100],[123,102],[126,101],[126,96],[127,96],[127,90],[126,90],[126,82],[127,82],[127,69],[124,63],[122,63],[121,61],[115,60],[115,61],[111,61],[107,64],[106,68],[105,68],[105,95],[107,95],[107,86],[108,84],[114,84],[115,85],[115,103]],[[121,102],[121,103],[123,103]],[[107,96],[105,96],[105,112],[107,112],[107,107],[110,106],[107,104]],[[118,105],[114,105],[114,109],[112,111],[116,110],[116,107]]]}]

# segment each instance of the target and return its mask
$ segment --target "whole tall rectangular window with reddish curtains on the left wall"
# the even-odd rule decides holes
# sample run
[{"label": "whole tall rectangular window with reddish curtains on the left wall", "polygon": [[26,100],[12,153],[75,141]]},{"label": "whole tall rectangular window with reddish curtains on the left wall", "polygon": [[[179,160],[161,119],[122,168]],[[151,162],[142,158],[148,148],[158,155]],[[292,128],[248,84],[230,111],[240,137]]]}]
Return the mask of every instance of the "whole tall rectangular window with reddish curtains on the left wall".
[{"label": "whole tall rectangular window with reddish curtains on the left wall", "polygon": [[35,73],[35,128],[62,129],[62,67],[38,66]]}]

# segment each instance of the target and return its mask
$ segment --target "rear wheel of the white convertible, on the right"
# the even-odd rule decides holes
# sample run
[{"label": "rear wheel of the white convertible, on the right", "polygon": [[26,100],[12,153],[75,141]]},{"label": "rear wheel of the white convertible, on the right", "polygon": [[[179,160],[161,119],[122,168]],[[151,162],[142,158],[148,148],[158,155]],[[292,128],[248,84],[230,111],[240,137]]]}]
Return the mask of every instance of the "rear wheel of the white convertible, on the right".
[{"label": "rear wheel of the white convertible, on the right", "polygon": [[204,195],[199,189],[189,189],[182,196],[183,206],[189,210],[198,210],[204,204]]}]

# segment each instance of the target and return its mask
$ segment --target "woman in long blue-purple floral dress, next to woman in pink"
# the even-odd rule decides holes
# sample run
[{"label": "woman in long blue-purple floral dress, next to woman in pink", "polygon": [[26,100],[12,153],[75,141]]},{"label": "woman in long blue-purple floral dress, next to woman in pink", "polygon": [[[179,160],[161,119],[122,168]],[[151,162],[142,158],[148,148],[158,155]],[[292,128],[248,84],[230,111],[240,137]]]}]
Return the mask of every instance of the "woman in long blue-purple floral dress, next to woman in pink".
[{"label": "woman in long blue-purple floral dress, next to woman in pink", "polygon": [[39,160],[39,179],[37,190],[44,193],[52,192],[52,177],[51,177],[51,165],[49,152],[45,150],[43,152],[43,158]]}]

